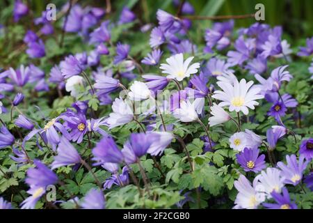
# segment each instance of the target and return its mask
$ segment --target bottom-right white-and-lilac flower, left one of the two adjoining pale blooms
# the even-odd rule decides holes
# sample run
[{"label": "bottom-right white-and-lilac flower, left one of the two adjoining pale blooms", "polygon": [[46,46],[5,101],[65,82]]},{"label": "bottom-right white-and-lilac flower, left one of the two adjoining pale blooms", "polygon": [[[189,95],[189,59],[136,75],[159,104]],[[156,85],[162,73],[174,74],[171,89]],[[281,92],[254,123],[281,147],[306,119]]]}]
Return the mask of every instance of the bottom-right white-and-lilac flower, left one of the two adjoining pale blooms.
[{"label": "bottom-right white-and-lilac flower, left one of the two adjoining pale blooms", "polygon": [[255,180],[253,187],[246,176],[240,175],[239,179],[234,182],[234,187],[238,190],[234,208],[255,209],[265,200],[262,194],[258,194],[255,190]]}]

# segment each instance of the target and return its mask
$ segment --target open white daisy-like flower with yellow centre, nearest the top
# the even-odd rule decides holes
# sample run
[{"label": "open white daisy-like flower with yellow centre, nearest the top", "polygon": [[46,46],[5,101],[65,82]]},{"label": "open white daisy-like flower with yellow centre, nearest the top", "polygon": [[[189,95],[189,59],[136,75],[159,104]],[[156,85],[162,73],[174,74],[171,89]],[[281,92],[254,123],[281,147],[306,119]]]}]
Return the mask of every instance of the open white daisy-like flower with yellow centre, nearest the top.
[{"label": "open white daisy-like flower with yellow centre, nearest the top", "polygon": [[198,72],[197,69],[200,68],[200,63],[193,63],[188,67],[192,60],[193,56],[184,61],[183,54],[175,54],[166,59],[168,64],[161,63],[160,69],[163,70],[163,73],[168,74],[167,77],[169,79],[177,79],[177,81],[181,82],[185,77],[189,77]]}]

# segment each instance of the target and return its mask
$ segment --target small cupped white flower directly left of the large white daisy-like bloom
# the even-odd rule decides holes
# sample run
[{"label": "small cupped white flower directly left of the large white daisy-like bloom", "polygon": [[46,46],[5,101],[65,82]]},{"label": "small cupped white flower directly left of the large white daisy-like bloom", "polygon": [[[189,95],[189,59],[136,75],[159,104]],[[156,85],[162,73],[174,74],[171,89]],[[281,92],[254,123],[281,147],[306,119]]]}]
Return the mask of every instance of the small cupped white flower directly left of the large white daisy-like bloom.
[{"label": "small cupped white flower directly left of the large white daisy-like bloom", "polygon": [[198,114],[195,111],[195,101],[192,104],[188,100],[180,102],[180,108],[175,109],[173,115],[175,118],[179,118],[183,123],[196,121]]}]

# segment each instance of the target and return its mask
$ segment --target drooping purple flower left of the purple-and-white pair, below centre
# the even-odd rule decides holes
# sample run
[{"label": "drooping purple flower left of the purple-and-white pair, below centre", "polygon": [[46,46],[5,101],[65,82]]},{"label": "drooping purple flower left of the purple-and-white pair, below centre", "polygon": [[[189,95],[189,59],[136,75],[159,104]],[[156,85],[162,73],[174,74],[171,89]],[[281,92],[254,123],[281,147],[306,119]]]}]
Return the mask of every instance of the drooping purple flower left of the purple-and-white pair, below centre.
[{"label": "drooping purple flower left of the purple-and-white pair, below centre", "polygon": [[120,163],[123,161],[122,152],[116,146],[115,141],[109,137],[103,137],[93,148],[93,160],[95,165],[104,164],[104,162]]}]

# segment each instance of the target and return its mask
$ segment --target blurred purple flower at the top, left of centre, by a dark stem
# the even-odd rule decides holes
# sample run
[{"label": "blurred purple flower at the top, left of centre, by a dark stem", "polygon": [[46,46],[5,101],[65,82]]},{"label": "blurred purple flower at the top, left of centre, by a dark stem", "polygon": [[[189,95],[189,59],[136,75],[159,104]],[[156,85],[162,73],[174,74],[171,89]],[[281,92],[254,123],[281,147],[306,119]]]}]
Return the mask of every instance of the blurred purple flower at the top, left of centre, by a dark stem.
[{"label": "blurred purple flower at the top, left of centre, by a dark stem", "polygon": [[[66,7],[69,7],[67,4]],[[83,19],[83,9],[79,5],[75,5],[72,7],[70,14],[67,17],[67,22],[63,27],[64,30],[70,33],[77,33],[81,30]],[[65,21],[64,21],[65,22]]]}]

